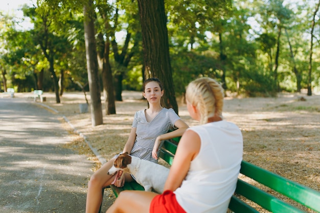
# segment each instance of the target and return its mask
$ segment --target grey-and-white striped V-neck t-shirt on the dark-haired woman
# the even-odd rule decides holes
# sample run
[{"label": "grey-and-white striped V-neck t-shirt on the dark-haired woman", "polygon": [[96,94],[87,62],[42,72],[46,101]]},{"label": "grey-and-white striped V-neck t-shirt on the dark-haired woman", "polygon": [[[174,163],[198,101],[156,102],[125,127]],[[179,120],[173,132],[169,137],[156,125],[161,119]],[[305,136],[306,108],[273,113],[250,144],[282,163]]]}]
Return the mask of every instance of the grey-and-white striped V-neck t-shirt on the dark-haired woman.
[{"label": "grey-and-white striped V-neck t-shirt on the dark-haired woman", "polygon": [[[151,122],[147,122],[145,110],[135,112],[132,127],[136,128],[136,138],[130,155],[157,163],[158,160],[152,157],[154,141],[157,136],[166,134],[171,127],[174,127],[179,119],[172,108],[163,108]],[[161,141],[158,148],[158,156],[163,143],[164,141]]]}]

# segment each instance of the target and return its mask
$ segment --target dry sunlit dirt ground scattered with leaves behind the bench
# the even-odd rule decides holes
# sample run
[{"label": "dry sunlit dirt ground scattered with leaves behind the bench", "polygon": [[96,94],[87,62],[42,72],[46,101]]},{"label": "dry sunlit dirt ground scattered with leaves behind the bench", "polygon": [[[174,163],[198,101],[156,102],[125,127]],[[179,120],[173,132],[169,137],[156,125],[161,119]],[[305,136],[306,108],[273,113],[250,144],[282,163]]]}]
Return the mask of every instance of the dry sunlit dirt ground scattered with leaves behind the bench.
[{"label": "dry sunlit dirt ground scattered with leaves behind the bench", "polygon": [[[15,96],[28,99],[31,93],[16,93]],[[46,101],[43,103],[67,117],[106,160],[122,151],[134,112],[147,107],[141,92],[124,91],[123,102],[116,103],[117,114],[105,115],[103,103],[103,125],[93,127],[90,109],[86,113],[79,111],[79,103],[85,103],[83,93],[66,92],[60,104],[56,103],[54,93],[45,92],[44,96]],[[90,101],[89,94],[87,98]],[[189,126],[197,125],[191,120],[186,105],[178,102],[181,119]],[[223,116],[242,130],[244,160],[320,191],[320,94],[279,93],[277,98],[226,97]],[[73,134],[72,129],[64,125]],[[99,168],[98,160],[81,137],[75,134],[73,137],[74,143],[68,146],[87,153],[88,158],[95,161],[93,170]],[[112,193],[108,196],[109,205],[114,197]]]}]

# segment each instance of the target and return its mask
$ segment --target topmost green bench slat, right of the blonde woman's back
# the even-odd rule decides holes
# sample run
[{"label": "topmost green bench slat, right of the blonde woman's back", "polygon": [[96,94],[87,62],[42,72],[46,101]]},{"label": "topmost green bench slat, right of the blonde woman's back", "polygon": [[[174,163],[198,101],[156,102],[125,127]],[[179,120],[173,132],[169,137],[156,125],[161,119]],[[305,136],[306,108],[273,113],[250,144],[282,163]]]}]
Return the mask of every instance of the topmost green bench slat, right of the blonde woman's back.
[{"label": "topmost green bench slat, right of the blonde woman's back", "polygon": [[299,183],[242,161],[240,173],[320,212],[320,193]]}]

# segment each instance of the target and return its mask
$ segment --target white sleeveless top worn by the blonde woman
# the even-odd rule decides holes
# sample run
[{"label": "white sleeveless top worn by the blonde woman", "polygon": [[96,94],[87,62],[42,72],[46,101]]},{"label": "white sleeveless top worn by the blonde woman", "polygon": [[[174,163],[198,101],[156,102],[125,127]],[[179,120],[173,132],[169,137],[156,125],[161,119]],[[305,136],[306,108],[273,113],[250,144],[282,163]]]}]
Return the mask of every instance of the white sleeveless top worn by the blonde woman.
[{"label": "white sleeveless top worn by the blonde woman", "polygon": [[220,121],[189,128],[201,140],[186,179],[174,192],[177,202],[190,213],[226,212],[240,171],[243,139],[233,123]]}]

